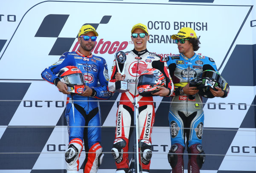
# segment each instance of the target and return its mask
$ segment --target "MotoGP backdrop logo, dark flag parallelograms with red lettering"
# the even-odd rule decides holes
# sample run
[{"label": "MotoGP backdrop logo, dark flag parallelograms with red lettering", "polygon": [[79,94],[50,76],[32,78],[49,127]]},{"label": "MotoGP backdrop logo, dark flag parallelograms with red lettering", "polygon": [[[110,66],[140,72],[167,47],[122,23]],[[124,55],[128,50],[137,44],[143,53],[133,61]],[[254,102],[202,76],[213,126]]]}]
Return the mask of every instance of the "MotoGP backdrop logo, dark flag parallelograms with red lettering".
[{"label": "MotoGP backdrop logo, dark flag parallelograms with red lettering", "polygon": [[[70,50],[71,46],[73,45],[74,41],[78,37],[78,33],[74,34],[73,38],[70,37],[58,37],[63,29],[69,14],[49,14],[44,17],[38,31],[35,34],[35,37],[56,37],[56,41],[54,45],[52,45],[52,49],[49,52],[49,55],[62,55],[63,52],[67,52]],[[99,25],[107,24],[112,16],[103,16],[100,23],[84,23],[84,25],[90,24],[95,29],[98,28]],[[53,26],[52,23],[55,23]],[[77,31],[79,28],[77,29]],[[101,46],[101,47],[100,47]],[[117,51],[124,50],[128,46],[128,42],[124,41],[120,43],[119,41],[114,41],[111,43],[110,41],[103,41],[100,39],[99,42],[95,44],[94,47],[94,54],[113,54]],[[72,51],[76,51],[79,47],[79,43],[76,42]]]}]

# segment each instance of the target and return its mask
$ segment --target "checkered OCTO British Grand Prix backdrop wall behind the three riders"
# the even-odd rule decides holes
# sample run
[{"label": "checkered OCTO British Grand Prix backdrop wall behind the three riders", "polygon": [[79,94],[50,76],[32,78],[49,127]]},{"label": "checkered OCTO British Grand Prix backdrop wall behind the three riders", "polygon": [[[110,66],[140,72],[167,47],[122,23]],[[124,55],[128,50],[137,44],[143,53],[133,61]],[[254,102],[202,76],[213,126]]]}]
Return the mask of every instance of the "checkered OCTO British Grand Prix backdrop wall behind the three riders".
[{"label": "checkered OCTO British Grand Prix backdrop wall behind the three riders", "polygon": [[[201,173],[255,173],[255,0],[12,0],[0,3],[0,173],[64,173],[68,144],[65,95],[41,78],[63,52],[78,49],[78,31],[93,25],[99,37],[93,54],[108,63],[133,49],[131,27],[148,26],[150,52],[178,53],[171,40],[181,27],[195,30],[196,52],[213,58],[230,85],[227,98],[204,99]],[[99,173],[114,173],[109,153],[116,118],[115,94],[99,102],[105,157]],[[154,97],[151,173],[169,173],[169,98]],[[133,144],[133,140],[131,140]],[[130,146],[130,151],[132,147]],[[82,153],[80,163],[85,154]],[[187,169],[187,156],[184,156]],[[82,172],[80,170],[79,172]]]}]

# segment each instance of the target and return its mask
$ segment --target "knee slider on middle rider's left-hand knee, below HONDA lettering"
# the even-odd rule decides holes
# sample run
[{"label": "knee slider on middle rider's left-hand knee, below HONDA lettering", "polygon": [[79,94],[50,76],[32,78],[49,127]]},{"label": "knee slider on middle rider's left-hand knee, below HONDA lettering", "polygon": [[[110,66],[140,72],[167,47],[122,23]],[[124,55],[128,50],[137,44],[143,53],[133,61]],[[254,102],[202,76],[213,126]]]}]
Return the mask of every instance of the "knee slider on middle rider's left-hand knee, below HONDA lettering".
[{"label": "knee slider on middle rider's left-hand knee, below HONDA lettering", "polygon": [[111,149],[113,158],[116,163],[120,163],[123,159],[124,147],[126,146],[126,141],[122,138],[116,138],[113,144],[113,148]]}]

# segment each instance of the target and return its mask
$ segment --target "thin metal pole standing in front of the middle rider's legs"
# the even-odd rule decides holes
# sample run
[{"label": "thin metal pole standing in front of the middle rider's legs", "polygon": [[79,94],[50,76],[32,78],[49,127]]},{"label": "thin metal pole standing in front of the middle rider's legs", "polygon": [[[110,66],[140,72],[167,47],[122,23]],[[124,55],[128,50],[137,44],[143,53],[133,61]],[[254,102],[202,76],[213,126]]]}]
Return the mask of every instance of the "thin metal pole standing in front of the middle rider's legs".
[{"label": "thin metal pole standing in front of the middle rider's legs", "polygon": [[140,173],[140,167],[139,167],[139,146],[138,146],[138,114],[139,114],[139,104],[137,101],[137,97],[134,97],[134,126],[135,126],[135,139],[134,139],[134,145],[136,146],[136,170],[137,173]]}]

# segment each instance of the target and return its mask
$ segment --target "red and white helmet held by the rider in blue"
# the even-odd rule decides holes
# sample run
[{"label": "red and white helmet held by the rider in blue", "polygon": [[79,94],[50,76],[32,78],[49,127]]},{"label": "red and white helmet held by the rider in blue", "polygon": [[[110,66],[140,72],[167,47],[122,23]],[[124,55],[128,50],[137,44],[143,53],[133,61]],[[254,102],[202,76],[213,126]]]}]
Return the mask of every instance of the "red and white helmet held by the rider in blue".
[{"label": "red and white helmet held by the rider in blue", "polygon": [[67,84],[67,91],[75,94],[84,92],[84,77],[76,66],[66,66],[58,72],[61,82]]}]

